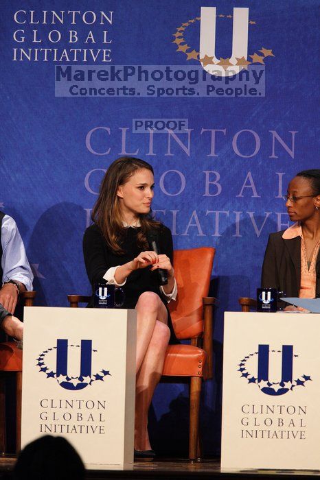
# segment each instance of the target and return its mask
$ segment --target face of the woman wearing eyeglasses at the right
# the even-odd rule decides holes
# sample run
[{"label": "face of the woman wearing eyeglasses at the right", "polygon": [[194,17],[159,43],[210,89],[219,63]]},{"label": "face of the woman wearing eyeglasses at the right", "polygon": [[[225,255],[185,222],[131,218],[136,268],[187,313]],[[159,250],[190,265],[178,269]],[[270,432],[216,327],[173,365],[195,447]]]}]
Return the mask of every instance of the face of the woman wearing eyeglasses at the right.
[{"label": "face of the woman wearing eyeglasses at the right", "polygon": [[[286,208],[291,221],[306,221],[315,215],[316,196],[308,178],[295,177],[288,184]],[[311,196],[309,196],[311,195]],[[292,197],[304,197],[293,200]]]}]

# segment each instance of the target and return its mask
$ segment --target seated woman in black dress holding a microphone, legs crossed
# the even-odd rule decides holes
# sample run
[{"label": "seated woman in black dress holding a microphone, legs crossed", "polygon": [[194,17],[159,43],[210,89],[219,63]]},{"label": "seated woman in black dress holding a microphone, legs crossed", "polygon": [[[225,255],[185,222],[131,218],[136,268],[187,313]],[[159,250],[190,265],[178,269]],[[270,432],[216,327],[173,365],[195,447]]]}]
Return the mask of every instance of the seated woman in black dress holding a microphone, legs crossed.
[{"label": "seated woman in black dress holding a microphone, legs crossed", "polygon": [[[176,297],[172,267],[172,236],[150,215],[154,195],[151,165],[138,158],[118,158],[104,176],[84,233],[84,261],[91,285],[113,283],[124,289],[124,308],[137,310],[137,383],[135,453],[150,451],[148,409],[163,370],[170,339],[168,309]],[[149,232],[156,232],[159,252],[150,251]],[[159,287],[157,269],[168,273]],[[169,317],[170,321],[170,317]],[[154,455],[152,451],[148,455]]]}]

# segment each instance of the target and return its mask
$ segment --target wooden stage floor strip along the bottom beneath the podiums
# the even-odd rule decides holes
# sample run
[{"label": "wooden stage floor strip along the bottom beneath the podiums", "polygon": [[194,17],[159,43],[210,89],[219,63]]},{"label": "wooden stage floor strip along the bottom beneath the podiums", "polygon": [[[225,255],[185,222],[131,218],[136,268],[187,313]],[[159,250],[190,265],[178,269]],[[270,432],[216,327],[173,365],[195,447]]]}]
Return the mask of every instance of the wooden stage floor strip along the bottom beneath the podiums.
[{"label": "wooden stage floor strip along the bottom beneath the podiums", "polygon": [[[13,479],[15,457],[0,457],[0,479]],[[132,470],[87,470],[86,479],[95,480],[171,480],[171,479],[314,479],[320,470],[232,470],[221,471],[220,459],[204,459],[194,463],[186,459],[161,459],[135,462]],[[76,480],[76,479],[70,479]]]}]

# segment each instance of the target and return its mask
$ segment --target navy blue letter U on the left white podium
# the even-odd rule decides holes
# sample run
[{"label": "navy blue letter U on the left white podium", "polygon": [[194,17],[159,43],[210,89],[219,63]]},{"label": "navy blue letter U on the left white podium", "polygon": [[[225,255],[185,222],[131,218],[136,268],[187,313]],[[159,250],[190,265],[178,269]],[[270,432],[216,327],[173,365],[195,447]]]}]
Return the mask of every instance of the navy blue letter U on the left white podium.
[{"label": "navy blue letter U on the left white podium", "polygon": [[[85,376],[91,377],[91,361],[92,361],[92,340],[81,340],[80,353],[80,375],[78,379],[83,379]],[[62,375],[66,379],[74,378],[71,374],[68,376],[68,341],[65,339],[57,339],[57,359],[56,359],[56,376]],[[67,381],[60,383],[61,387],[67,389],[82,389],[87,386],[87,383],[79,383],[73,385]]]}]

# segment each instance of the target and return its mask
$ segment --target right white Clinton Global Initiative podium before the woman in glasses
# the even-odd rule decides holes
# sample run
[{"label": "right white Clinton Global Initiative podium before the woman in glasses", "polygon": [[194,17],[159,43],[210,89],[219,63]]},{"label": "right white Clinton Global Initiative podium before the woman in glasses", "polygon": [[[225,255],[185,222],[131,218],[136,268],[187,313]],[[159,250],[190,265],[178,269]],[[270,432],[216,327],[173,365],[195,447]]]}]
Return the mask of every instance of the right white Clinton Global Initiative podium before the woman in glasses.
[{"label": "right white Clinton Global Initiative podium before the woman in glasses", "polygon": [[225,313],[222,468],[320,469],[320,315]]}]

